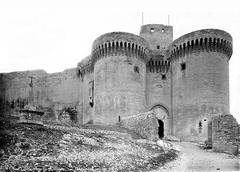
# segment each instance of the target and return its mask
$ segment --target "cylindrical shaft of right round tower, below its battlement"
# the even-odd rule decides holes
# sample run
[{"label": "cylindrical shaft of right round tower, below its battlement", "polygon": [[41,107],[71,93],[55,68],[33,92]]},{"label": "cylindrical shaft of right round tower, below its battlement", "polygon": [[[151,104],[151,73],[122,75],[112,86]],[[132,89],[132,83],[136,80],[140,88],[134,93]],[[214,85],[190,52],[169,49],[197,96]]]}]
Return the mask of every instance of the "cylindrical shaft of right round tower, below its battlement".
[{"label": "cylindrical shaft of right round tower, below its battlement", "polygon": [[212,115],[229,113],[228,59],[219,52],[186,54],[172,63],[172,77],[175,134],[204,142]]}]

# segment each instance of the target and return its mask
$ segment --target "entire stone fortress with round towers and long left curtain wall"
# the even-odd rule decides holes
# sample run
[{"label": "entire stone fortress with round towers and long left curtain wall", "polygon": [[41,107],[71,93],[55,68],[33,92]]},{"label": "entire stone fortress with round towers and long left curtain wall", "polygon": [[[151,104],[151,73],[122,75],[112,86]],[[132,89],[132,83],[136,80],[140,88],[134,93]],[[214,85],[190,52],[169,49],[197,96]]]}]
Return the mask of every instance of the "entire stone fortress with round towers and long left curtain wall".
[{"label": "entire stone fortress with round towers and long left curtain wall", "polygon": [[114,125],[152,110],[160,137],[205,141],[211,119],[229,114],[231,55],[231,35],[217,29],[176,40],[173,27],[162,24],[143,25],[139,36],[107,33],[74,69],[1,74],[1,110],[32,104],[59,121],[71,107],[79,125]]}]

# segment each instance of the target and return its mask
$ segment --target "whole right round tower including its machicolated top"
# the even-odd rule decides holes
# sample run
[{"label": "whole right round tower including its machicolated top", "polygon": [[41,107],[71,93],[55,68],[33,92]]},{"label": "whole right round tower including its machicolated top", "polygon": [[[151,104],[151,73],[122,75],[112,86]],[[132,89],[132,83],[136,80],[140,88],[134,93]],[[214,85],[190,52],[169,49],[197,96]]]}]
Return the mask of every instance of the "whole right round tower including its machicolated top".
[{"label": "whole right round tower including its machicolated top", "polygon": [[199,30],[175,40],[170,51],[174,134],[205,141],[211,117],[229,113],[232,37],[222,30]]}]

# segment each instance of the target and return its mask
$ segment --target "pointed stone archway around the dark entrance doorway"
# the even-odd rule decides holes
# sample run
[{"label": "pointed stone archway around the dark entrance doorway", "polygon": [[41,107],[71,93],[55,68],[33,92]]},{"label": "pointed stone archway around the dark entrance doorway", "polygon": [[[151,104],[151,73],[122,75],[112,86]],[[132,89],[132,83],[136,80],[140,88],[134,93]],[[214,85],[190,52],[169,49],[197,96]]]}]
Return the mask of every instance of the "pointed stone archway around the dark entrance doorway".
[{"label": "pointed stone archway around the dark entrance doorway", "polygon": [[169,113],[167,108],[162,105],[155,105],[151,108],[152,111],[156,113],[158,120],[158,135],[159,138],[163,138],[170,134],[170,123],[169,123]]}]

